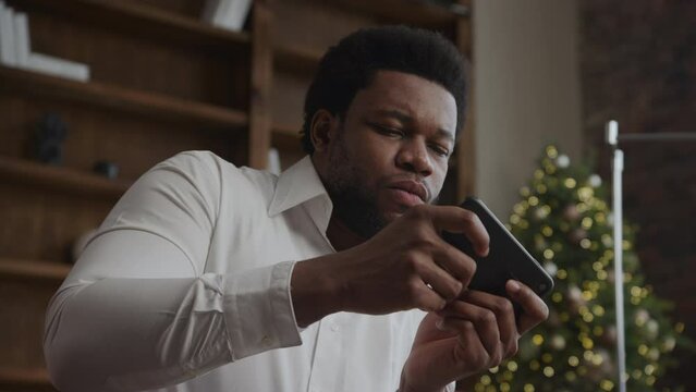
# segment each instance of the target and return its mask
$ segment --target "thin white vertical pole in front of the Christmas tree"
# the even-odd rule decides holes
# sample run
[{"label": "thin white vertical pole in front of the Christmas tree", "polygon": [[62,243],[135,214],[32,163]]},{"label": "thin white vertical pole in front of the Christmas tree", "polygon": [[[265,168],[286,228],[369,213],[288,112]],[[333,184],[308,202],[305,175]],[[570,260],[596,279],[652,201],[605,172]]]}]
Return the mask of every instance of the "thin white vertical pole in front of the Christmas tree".
[{"label": "thin white vertical pole in front of the Christmas tree", "polygon": [[618,148],[619,124],[607,123],[607,142],[613,146],[613,229],[614,229],[614,295],[616,304],[616,359],[619,362],[619,392],[626,392],[626,343],[623,306],[623,151]]}]

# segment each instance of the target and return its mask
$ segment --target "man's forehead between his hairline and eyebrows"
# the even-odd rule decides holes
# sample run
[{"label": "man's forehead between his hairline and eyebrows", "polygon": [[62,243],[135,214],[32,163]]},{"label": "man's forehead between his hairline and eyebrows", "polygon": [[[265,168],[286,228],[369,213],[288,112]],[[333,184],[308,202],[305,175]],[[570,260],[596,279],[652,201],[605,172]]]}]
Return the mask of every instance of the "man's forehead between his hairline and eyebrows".
[{"label": "man's forehead between his hairline and eyebrows", "polygon": [[377,71],[371,83],[357,91],[351,109],[364,113],[399,110],[452,133],[456,127],[456,101],[450,91],[435,82],[398,71]]}]

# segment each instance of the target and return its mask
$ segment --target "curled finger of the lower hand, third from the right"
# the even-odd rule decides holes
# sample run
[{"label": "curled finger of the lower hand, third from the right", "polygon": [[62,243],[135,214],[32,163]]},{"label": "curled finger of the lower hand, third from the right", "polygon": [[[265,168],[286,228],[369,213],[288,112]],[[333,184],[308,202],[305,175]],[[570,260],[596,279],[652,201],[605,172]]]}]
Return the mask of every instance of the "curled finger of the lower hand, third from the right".
[{"label": "curled finger of the lower hand, third from the right", "polygon": [[439,311],[439,315],[443,316],[443,327],[454,321],[471,321],[484,347],[486,347],[486,352],[491,357],[496,355],[502,356],[498,320],[496,319],[496,314],[489,309],[463,301],[454,301]]}]

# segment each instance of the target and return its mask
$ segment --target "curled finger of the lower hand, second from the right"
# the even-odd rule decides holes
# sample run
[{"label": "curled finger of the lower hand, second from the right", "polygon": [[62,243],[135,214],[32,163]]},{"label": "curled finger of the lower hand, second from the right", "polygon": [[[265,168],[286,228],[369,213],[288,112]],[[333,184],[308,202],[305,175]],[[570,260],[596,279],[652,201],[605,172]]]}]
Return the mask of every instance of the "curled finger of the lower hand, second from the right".
[{"label": "curled finger of the lower hand, second from the right", "polygon": [[460,296],[460,299],[490,309],[496,314],[500,329],[500,341],[504,346],[503,356],[509,358],[517,353],[520,333],[517,332],[515,311],[510,299],[476,290],[466,291]]}]

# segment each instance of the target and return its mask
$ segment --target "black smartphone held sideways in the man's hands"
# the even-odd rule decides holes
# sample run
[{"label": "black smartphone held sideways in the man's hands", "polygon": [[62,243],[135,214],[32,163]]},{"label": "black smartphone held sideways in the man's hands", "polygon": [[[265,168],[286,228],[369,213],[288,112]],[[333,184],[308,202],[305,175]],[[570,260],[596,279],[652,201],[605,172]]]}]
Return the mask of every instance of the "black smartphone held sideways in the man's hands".
[{"label": "black smartphone held sideways in the man's hands", "polygon": [[[469,289],[508,297],[505,282],[510,279],[526,284],[539,296],[547,295],[553,289],[553,279],[481,200],[467,197],[461,207],[478,216],[490,237],[488,256],[480,257],[464,234],[442,233],[444,241],[476,261],[476,273]],[[515,313],[518,314],[517,308]]]}]

